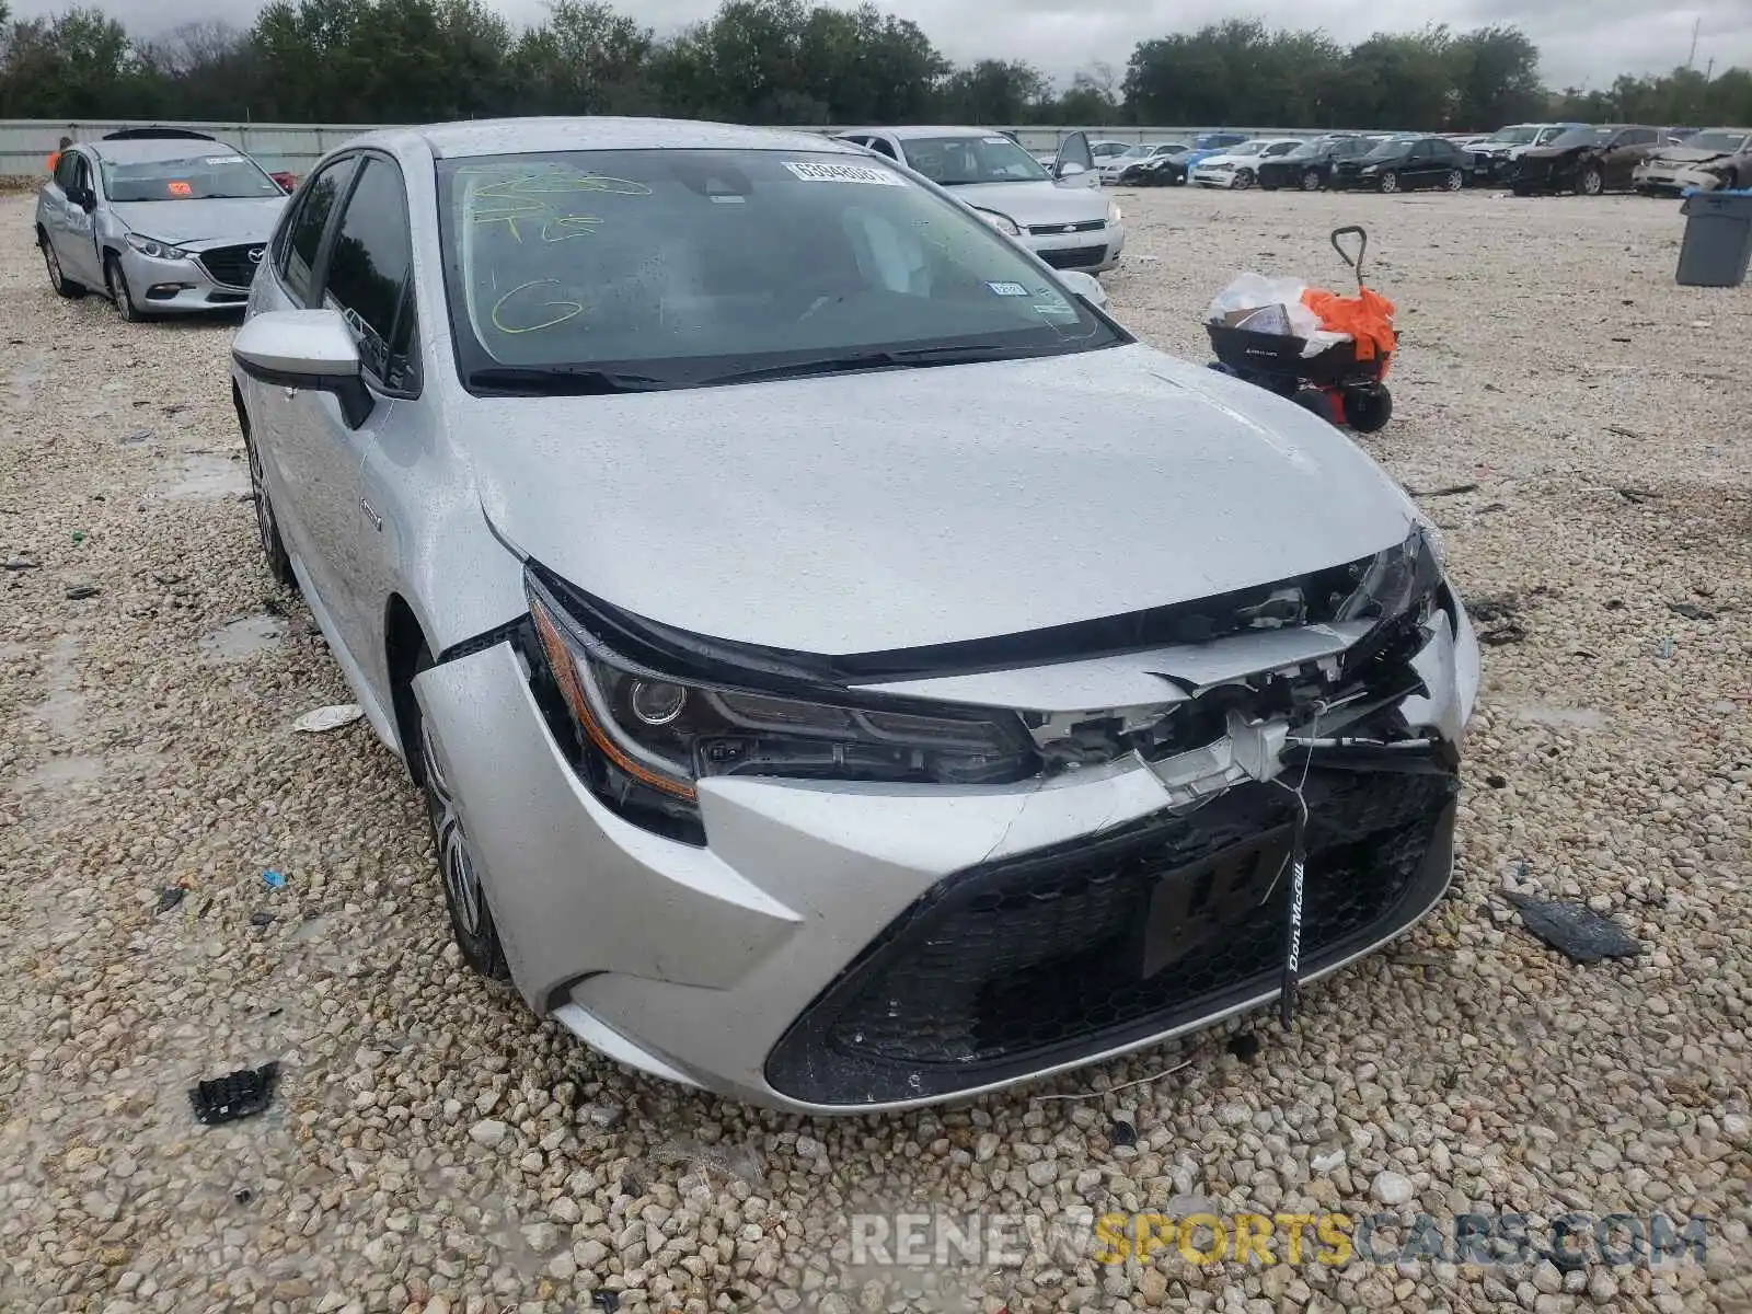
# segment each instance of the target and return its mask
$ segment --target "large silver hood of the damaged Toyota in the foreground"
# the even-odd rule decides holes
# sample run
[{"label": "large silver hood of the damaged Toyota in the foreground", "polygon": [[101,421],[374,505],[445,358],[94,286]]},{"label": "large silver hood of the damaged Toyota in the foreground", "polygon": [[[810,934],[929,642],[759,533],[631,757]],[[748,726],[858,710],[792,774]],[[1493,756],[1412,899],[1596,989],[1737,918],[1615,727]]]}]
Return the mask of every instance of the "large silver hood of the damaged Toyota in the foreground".
[{"label": "large silver hood of the damaged Toyota in the foreground", "polygon": [[1339,429],[1128,345],[606,398],[461,394],[482,508],[625,611],[855,653],[1016,634],[1403,541]]}]

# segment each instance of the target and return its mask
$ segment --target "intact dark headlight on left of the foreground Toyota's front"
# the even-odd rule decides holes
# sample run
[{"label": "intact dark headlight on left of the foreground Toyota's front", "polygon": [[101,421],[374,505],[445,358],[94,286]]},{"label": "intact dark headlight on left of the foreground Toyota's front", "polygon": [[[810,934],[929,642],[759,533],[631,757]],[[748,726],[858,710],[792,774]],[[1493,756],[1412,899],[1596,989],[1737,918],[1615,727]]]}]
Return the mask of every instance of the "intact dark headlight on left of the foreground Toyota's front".
[{"label": "intact dark headlight on left of the foreground Toyota's front", "polygon": [[1039,771],[1013,713],[855,699],[823,703],[682,680],[631,661],[533,573],[524,576],[545,675],[575,731],[580,774],[617,809],[697,825],[696,781],[785,776],[990,785]]}]

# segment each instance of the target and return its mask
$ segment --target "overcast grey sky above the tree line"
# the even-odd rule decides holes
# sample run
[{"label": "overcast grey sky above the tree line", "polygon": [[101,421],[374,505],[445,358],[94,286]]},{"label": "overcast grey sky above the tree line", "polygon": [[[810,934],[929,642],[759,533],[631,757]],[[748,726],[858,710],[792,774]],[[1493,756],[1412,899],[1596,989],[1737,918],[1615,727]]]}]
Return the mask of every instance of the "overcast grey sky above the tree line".
[{"label": "overcast grey sky above the tree line", "polygon": [[[88,0],[102,4],[128,26],[151,33],[166,26],[165,0]],[[14,0],[12,12],[33,16],[65,9],[70,0]],[[489,0],[517,23],[540,19],[543,0]],[[1353,42],[1379,28],[1416,28],[1426,21],[1456,28],[1515,23],[1544,53],[1552,86],[1601,86],[1619,72],[1664,72],[1684,63],[1692,25],[1701,19],[1698,68],[1752,67],[1752,2],[1748,0],[1400,0],[1396,5],[1360,0],[876,0],[916,21],[953,60],[1030,60],[1055,77],[1106,60],[1123,70],[1141,39],[1197,28],[1237,14],[1256,14],[1281,26],[1323,26]],[[179,19],[219,18],[247,25],[254,0],[179,0]],[[717,0],[620,0],[618,9],[666,33],[710,14]],[[1389,18],[1391,14],[1391,18]]]}]

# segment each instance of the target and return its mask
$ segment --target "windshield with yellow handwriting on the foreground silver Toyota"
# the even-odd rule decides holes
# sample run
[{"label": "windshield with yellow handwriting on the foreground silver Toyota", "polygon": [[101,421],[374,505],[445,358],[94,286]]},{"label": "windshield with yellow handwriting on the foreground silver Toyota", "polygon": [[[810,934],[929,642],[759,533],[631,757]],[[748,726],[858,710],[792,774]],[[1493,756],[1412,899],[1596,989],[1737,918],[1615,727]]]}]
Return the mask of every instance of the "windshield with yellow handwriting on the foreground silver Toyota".
[{"label": "windshield with yellow handwriting on the foreground silver Toyota", "polygon": [[580,151],[443,161],[438,180],[457,363],[477,389],[1125,342],[965,207],[857,156]]}]

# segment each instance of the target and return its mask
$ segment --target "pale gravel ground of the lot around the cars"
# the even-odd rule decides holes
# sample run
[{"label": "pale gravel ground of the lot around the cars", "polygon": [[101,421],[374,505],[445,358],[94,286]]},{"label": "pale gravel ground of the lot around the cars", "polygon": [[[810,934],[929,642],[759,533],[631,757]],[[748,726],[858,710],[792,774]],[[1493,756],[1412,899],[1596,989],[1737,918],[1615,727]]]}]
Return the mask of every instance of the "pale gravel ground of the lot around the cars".
[{"label": "pale gravel ground of the lot around the cars", "polygon": [[[1114,307],[1195,359],[1232,270],[1342,287],[1326,230],[1372,230],[1405,342],[1365,442],[1498,639],[1456,895],[1289,1034],[839,1121],[634,1077],[461,967],[398,766],[363,725],[291,732],[347,690],[258,559],[230,328],[58,301],[0,200],[0,1307],[1752,1309],[1752,289],[1673,286],[1670,203],[1121,200]],[[1570,965],[1515,890],[1645,953]],[[268,1058],[265,1116],[194,1125],[189,1084]],[[930,1207],[1659,1211],[1710,1246],[1652,1274],[1046,1254],[908,1303],[923,1279],[855,1265],[846,1216]]]}]

